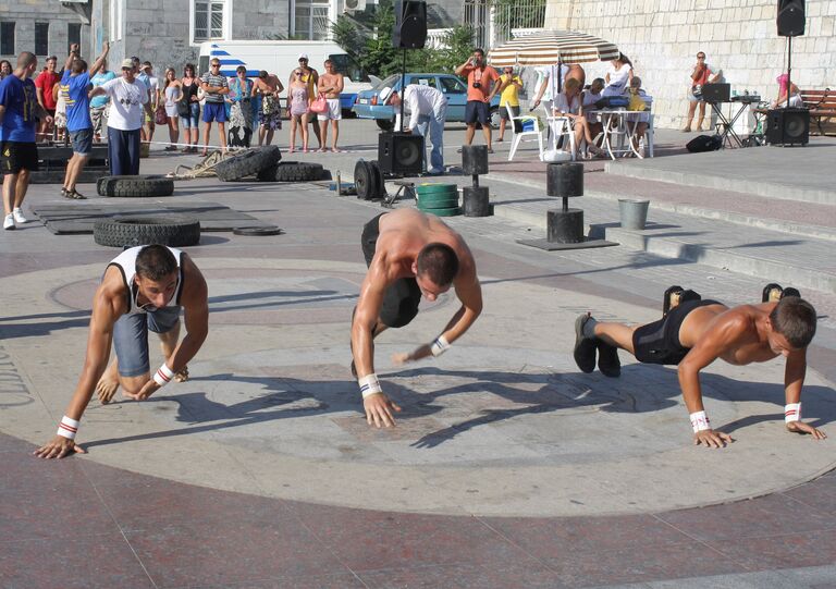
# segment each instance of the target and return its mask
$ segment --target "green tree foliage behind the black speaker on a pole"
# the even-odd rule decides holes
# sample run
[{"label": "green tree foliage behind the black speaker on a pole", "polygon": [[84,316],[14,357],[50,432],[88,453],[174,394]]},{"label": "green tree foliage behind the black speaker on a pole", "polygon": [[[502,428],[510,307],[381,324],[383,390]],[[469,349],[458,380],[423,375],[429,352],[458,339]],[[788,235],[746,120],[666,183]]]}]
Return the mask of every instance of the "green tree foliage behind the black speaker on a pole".
[{"label": "green tree foliage behind the black speaker on a pole", "polygon": [[[384,78],[401,71],[404,50],[392,47],[395,13],[392,0],[380,0],[366,12],[340,15],[331,30],[336,44],[369,74]],[[445,33],[442,49],[407,49],[409,72],[453,72],[472,51],[472,29],[454,26]]]}]

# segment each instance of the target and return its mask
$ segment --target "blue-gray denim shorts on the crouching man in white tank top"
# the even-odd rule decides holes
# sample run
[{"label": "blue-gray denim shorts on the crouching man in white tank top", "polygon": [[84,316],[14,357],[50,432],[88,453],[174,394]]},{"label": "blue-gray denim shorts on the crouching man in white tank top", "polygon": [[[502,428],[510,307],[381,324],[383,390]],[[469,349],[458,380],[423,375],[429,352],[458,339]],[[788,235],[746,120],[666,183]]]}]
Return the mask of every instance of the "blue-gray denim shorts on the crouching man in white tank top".
[{"label": "blue-gray denim shorts on the crouching man in white tank top", "polygon": [[181,307],[163,307],[153,312],[123,315],[113,326],[113,348],[122,377],[140,377],[150,371],[148,331],[165,333],[180,320]]}]

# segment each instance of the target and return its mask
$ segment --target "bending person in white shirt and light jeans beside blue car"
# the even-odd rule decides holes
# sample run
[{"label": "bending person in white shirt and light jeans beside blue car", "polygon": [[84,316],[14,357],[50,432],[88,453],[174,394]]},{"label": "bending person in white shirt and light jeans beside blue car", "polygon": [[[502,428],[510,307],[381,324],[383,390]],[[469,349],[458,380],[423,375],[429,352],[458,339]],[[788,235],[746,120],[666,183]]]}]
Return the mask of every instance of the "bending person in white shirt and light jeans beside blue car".
[{"label": "bending person in white shirt and light jeans beside blue car", "polygon": [[[409,123],[404,131],[406,133],[418,132],[427,137],[428,131],[432,142],[430,152],[430,174],[444,173],[444,119],[447,112],[447,100],[438,88],[422,84],[409,84],[404,90],[403,99],[398,93],[386,86],[380,91],[380,101],[392,105],[395,112],[399,112],[401,102],[404,109],[410,113]],[[426,148],[426,143],[425,143]],[[423,155],[423,169],[427,170],[427,152]]]}]

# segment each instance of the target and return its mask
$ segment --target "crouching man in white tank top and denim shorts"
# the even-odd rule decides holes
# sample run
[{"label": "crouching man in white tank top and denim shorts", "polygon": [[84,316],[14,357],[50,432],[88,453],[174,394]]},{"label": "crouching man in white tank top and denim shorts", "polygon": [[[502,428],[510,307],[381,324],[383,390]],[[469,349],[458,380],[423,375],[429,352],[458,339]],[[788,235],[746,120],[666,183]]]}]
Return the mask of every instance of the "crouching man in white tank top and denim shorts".
[{"label": "crouching man in white tank top and denim shorts", "polygon": [[[181,307],[186,336],[177,343]],[[155,372],[148,359],[149,330],[159,335],[165,357]],[[108,265],[93,299],[87,354],[70,406],[56,437],[35,454],[61,458],[84,452],[75,434],[94,391],[110,403],[121,385],[125,396],[144,401],[172,380],[186,380],[186,364],[208,331],[206,280],[185,253],[161,245],[123,251]],[[108,368],[111,343],[116,359]]]}]

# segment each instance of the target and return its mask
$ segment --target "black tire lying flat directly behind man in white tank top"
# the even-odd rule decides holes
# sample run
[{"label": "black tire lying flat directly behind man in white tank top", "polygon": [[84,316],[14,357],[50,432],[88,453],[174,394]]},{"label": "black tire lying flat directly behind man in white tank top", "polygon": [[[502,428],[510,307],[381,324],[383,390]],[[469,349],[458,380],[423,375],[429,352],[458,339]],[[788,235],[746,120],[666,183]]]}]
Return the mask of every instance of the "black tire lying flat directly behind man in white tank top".
[{"label": "black tire lying flat directly behind man in white tank top", "polygon": [[93,238],[99,245],[112,247],[150,244],[184,247],[200,242],[200,222],[174,214],[116,217],[96,221]]}]

